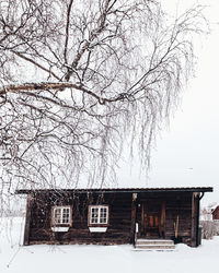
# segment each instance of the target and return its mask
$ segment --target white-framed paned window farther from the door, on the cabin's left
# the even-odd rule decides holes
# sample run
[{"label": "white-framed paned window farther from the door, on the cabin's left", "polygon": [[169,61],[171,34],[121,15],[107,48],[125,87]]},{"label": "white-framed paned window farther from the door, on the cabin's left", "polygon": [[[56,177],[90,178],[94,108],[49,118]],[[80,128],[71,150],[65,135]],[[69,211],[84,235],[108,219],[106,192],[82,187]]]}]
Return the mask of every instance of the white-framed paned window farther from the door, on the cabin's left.
[{"label": "white-framed paned window farther from the door, on the cabin's left", "polygon": [[69,225],[71,222],[70,206],[54,206],[53,207],[53,224]]}]

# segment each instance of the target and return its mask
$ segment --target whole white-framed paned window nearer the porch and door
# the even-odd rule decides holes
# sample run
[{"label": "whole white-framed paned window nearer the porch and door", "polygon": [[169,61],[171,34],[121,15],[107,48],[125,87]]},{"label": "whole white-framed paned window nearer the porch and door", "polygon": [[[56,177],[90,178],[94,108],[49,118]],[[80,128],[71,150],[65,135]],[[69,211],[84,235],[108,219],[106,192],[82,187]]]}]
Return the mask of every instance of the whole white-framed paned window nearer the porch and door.
[{"label": "whole white-framed paned window nearer the porch and door", "polygon": [[108,205],[90,205],[89,206],[90,225],[108,224]]}]

